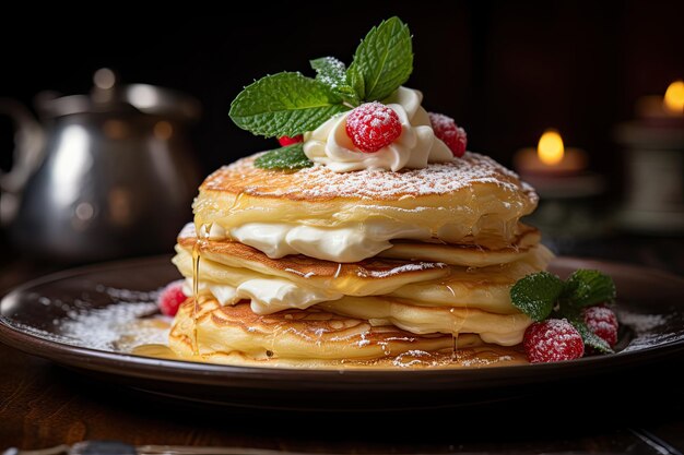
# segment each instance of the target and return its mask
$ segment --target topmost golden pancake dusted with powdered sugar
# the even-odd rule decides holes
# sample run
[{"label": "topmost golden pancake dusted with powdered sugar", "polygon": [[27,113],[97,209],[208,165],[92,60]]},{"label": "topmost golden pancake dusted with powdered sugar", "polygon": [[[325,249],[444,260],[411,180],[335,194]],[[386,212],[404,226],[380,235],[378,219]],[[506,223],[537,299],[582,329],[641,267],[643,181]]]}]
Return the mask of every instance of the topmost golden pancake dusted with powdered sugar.
[{"label": "topmost golden pancake dusted with powdered sugar", "polygon": [[470,152],[423,169],[346,173],[326,166],[266,170],[253,166],[258,156],[204,180],[193,205],[197,226],[216,224],[229,231],[278,220],[330,229],[386,220],[449,243],[499,249],[515,244],[518,219],[538,203],[536,193],[517,175]]}]

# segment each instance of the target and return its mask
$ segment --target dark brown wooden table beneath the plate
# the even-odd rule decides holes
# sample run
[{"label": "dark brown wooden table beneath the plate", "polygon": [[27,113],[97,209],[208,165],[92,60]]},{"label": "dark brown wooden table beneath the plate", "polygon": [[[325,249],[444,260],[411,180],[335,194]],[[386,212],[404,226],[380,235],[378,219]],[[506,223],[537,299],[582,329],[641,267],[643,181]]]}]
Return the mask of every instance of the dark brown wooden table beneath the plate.
[{"label": "dark brown wooden table beneath the plate", "polygon": [[[679,240],[615,241],[620,259],[629,255],[682,273]],[[1,290],[49,268],[5,261]],[[476,408],[321,415],[188,408],[0,345],[0,451],[106,439],[307,453],[654,454],[668,453],[668,446],[677,453],[673,451],[684,450],[682,367],[684,358],[675,358],[603,376],[595,384],[540,388],[521,399]]]}]

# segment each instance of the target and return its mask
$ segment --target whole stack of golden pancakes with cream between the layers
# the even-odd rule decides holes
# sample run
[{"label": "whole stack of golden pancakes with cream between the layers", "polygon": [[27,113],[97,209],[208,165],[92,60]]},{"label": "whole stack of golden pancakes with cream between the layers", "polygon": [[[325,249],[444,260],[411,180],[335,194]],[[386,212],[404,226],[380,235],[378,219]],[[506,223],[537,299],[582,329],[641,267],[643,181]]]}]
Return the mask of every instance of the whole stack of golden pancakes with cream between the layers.
[{"label": "whole stack of golden pancakes with cream between the layers", "polygon": [[538,196],[514,172],[474,153],[346,173],[266,170],[258,156],[207,178],[178,237],[188,282],[199,258],[199,292],[170,332],[178,355],[410,364],[521,343],[531,321],[510,286],[552,255],[519,220]]}]

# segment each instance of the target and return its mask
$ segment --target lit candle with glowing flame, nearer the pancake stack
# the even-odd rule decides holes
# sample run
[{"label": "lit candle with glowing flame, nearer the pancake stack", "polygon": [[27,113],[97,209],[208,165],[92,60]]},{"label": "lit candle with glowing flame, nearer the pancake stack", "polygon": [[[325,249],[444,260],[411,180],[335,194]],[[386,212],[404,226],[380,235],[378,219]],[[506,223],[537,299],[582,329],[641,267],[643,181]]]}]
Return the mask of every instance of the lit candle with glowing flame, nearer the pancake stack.
[{"label": "lit candle with glowing flame, nearer the pancake stack", "polygon": [[549,129],[536,148],[522,148],[514,157],[514,166],[521,175],[570,175],[587,168],[587,154],[580,148],[565,148],[563,137]]}]

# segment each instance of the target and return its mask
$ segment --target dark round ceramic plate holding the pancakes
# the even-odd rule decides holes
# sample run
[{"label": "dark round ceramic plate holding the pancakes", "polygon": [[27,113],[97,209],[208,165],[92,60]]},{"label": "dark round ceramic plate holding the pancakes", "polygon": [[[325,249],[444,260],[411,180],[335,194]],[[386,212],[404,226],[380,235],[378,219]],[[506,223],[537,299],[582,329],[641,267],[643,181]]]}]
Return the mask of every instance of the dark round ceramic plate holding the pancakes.
[{"label": "dark round ceramic plate holding the pancakes", "polygon": [[[618,352],[511,367],[316,371],[227,367],[123,352],[111,321],[145,318],[179,278],[169,258],[71,270],[27,283],[0,302],[0,342],[83,373],[160,396],[271,409],[432,409],[519,397],[550,384],[598,381],[684,354],[684,279],[617,263],[559,258],[552,272],[610,274],[618,290]],[[87,336],[84,335],[87,332]],[[84,346],[84,339],[87,346]]]}]

